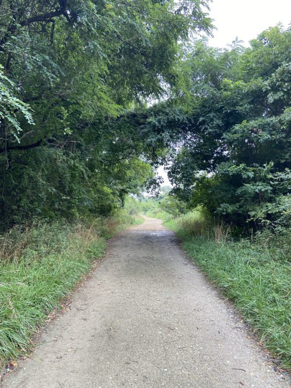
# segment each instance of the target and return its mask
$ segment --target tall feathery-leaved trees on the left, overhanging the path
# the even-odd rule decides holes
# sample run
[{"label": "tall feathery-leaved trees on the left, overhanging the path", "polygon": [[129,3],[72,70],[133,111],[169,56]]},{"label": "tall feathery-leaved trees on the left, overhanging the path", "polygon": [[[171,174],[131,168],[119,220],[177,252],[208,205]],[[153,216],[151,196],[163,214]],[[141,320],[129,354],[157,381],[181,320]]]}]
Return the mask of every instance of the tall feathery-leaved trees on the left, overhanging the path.
[{"label": "tall feathery-leaved trees on the left, overhanging the path", "polygon": [[[177,83],[202,1],[0,1],[0,220],[108,214],[152,178],[124,117]],[[205,8],[204,8],[205,9]]]}]

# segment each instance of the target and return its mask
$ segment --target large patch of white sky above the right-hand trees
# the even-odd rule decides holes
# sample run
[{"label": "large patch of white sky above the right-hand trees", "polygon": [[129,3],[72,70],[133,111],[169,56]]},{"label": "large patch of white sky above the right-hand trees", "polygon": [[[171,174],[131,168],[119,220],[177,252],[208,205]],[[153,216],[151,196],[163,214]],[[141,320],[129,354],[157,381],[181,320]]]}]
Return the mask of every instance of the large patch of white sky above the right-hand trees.
[{"label": "large patch of white sky above the right-hand trees", "polygon": [[225,47],[236,36],[248,45],[267,28],[291,23],[291,0],[213,0],[210,8],[217,30],[209,44],[215,47]]}]

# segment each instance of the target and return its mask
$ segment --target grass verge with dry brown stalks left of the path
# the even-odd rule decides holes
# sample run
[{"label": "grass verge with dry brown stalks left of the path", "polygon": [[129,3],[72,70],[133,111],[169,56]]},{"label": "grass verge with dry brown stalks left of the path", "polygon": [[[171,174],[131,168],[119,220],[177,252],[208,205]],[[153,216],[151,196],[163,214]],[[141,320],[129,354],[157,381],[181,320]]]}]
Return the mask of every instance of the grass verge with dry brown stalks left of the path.
[{"label": "grass verge with dry brown stalks left of the path", "polygon": [[31,335],[61,307],[106,248],[106,240],[141,217],[114,217],[75,225],[39,224],[0,236],[0,367],[29,352]]}]

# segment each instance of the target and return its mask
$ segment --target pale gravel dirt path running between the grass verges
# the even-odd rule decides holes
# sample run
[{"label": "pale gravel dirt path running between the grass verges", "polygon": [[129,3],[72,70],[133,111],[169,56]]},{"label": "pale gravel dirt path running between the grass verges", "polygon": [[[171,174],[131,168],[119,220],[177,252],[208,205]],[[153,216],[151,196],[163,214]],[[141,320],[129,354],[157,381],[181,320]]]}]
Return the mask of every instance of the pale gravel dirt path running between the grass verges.
[{"label": "pale gravel dirt path running between the grass verges", "polygon": [[290,387],[172,232],[146,218],[48,325],[4,387]]}]

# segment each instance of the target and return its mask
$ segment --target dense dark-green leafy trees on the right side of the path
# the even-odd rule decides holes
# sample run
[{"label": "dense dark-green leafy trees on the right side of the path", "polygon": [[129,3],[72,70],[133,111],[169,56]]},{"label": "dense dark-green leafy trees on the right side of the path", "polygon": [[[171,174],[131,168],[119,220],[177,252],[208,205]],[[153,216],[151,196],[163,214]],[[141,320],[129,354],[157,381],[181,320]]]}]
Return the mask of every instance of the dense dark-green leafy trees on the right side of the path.
[{"label": "dense dark-green leafy trees on the right side of the path", "polygon": [[271,28],[249,48],[199,40],[182,72],[180,93],[155,107],[148,123],[172,148],[173,192],[243,229],[288,226],[291,30]]}]

